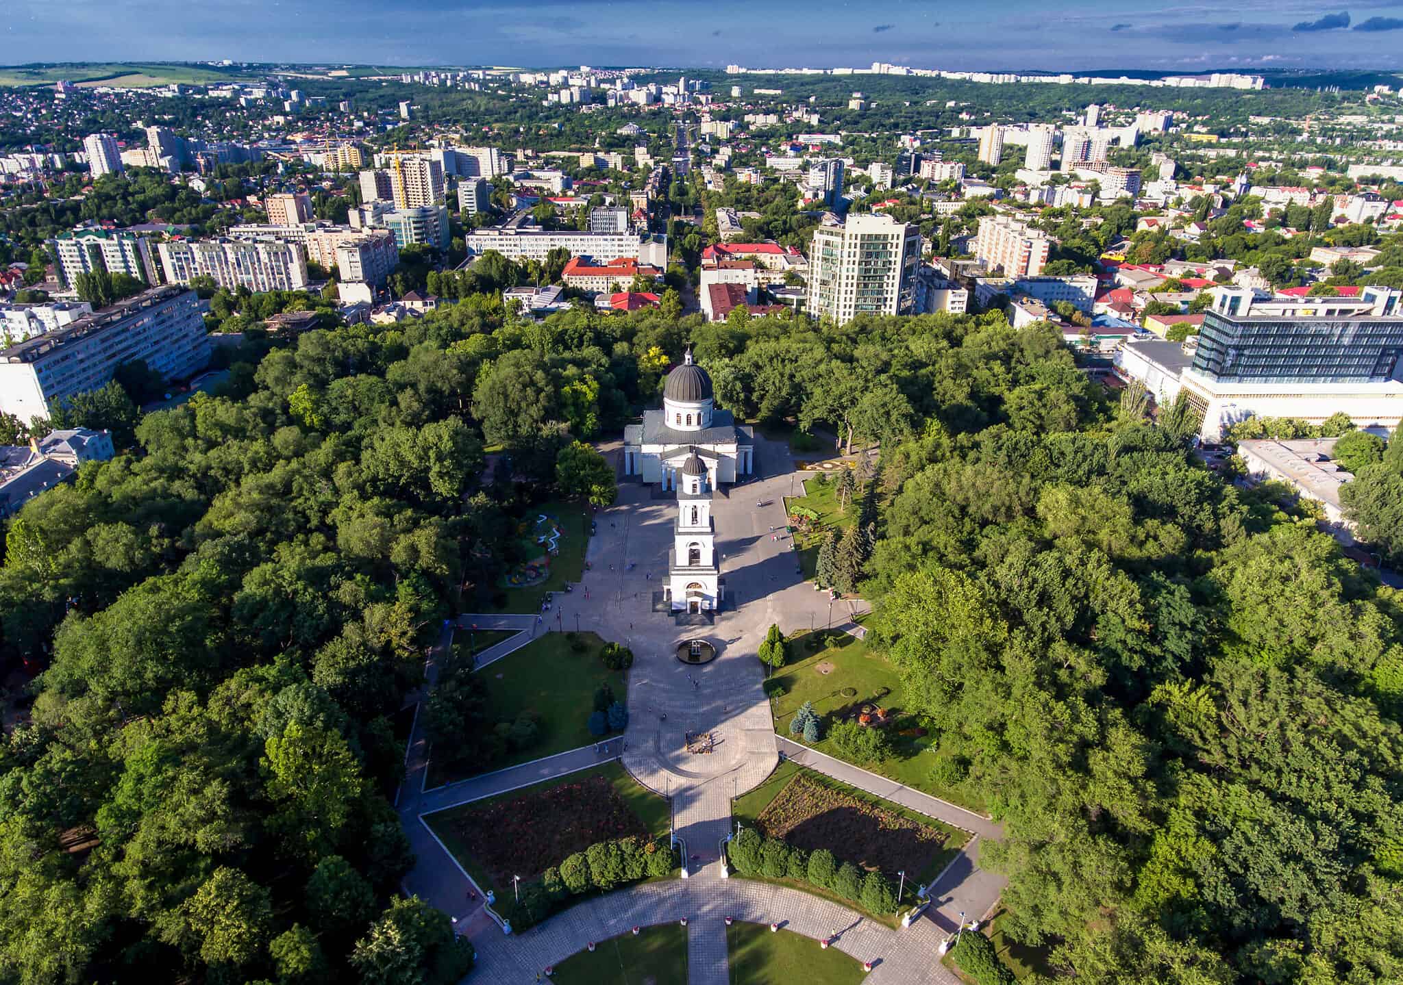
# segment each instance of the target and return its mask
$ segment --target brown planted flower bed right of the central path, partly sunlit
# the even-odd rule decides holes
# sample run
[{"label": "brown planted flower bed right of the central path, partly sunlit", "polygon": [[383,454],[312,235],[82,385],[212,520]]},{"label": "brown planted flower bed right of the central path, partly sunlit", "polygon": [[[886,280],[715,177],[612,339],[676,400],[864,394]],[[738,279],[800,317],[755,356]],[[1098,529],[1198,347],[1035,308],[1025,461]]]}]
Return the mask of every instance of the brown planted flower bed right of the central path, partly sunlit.
[{"label": "brown planted flower bed right of the central path, partly sunlit", "polygon": [[797,775],[759,818],[760,829],[805,850],[826,848],[866,869],[919,873],[947,835],[860,797]]}]

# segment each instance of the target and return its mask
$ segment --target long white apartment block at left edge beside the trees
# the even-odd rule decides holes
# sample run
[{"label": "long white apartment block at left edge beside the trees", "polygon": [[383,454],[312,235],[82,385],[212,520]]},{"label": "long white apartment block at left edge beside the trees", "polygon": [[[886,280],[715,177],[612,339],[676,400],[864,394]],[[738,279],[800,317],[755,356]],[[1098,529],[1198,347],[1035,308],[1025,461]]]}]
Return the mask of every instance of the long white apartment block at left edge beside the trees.
[{"label": "long white apartment block at left edge beside the trees", "polygon": [[137,359],[167,380],[205,368],[209,335],[195,291],[156,287],[0,349],[0,411],[21,420],[49,418]]}]

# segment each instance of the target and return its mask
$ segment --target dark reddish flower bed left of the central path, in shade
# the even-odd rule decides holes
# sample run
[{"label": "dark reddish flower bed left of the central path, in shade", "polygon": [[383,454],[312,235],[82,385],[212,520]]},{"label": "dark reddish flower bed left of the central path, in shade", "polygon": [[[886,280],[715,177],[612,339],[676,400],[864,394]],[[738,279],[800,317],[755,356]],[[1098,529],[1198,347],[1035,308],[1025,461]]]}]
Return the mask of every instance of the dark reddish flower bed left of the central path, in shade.
[{"label": "dark reddish flower bed left of the central path, in shade", "polygon": [[598,841],[648,836],[638,815],[603,776],[467,811],[453,820],[453,834],[498,887],[509,884],[512,876],[535,879]]}]

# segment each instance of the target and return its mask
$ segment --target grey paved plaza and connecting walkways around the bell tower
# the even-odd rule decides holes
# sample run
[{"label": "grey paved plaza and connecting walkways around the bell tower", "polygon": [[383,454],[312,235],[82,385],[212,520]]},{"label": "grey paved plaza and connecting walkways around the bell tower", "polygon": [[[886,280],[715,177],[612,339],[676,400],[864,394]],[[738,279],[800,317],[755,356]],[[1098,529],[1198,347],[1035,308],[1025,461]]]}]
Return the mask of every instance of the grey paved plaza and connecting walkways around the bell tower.
[{"label": "grey paved plaza and connecting walkways around the bell tower", "polygon": [[[603,451],[617,465],[619,444]],[[455,628],[518,629],[518,635],[484,652],[481,661],[504,659],[543,632],[588,631],[617,640],[634,652],[629,674],[629,727],[603,747],[563,752],[497,773],[424,790],[428,754],[417,724],[407,759],[407,779],[397,806],[418,865],[404,881],[408,893],[455,916],[459,932],[473,937],[480,963],[471,981],[532,982],[553,965],[585,947],[626,933],[634,925],[689,918],[690,985],[727,985],[724,916],[769,923],[811,937],[842,930],[836,947],[859,960],[874,961],[873,982],[953,982],[939,965],[936,947],[964,911],[984,916],[1003,881],[976,866],[978,838],[932,887],[936,905],[911,928],[890,930],[832,902],[797,890],[784,890],[721,874],[721,841],[731,827],[731,799],[758,786],[774,768],[780,740],[774,734],[763,692],[763,667],[756,650],[772,624],[791,633],[811,626],[845,625],[861,612],[852,602],[829,605],[825,593],[803,581],[793,542],[783,535],[784,497],[800,495],[798,476],[787,444],[755,436],[756,476],[724,488],[713,500],[716,545],[725,591],[724,608],[709,624],[678,625],[655,611],[654,597],[666,584],[668,551],[673,544],[676,499],[652,488],[624,482],[619,499],[599,510],[591,538],[589,570],[570,593],[557,593],[553,608],[537,624],[535,615],[464,615],[446,626],[436,650],[452,640]],[[765,503],[765,506],[760,506]],[[717,657],[702,666],[676,659],[679,643],[704,639]],[[428,667],[429,685],[435,678]],[[710,733],[713,751],[687,750],[687,736]],[[786,745],[796,752],[801,747]],[[422,814],[519,789],[543,779],[622,758],[629,772],[672,801],[673,829],[685,845],[689,877],[651,883],[586,900],[542,926],[505,936],[484,918],[473,898],[467,874],[419,820]],[[815,769],[863,789],[897,785],[828,757],[796,755]],[[857,782],[854,782],[854,779]],[[971,814],[913,790],[894,799],[982,836],[998,828]],[[877,790],[873,790],[877,792]],[[915,803],[911,803],[915,801]],[[543,818],[543,822],[546,820]]]}]

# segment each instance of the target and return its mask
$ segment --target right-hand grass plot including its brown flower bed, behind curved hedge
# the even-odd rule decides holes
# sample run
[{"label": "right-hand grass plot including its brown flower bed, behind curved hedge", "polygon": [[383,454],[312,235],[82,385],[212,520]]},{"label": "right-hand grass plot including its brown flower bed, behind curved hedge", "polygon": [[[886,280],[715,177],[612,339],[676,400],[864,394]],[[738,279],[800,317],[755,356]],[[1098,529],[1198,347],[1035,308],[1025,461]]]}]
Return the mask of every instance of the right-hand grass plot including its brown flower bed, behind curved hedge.
[{"label": "right-hand grass plot including its brown flower bed, behind curved hedge", "polygon": [[[906,900],[950,863],[969,835],[890,800],[805,769],[788,759],[731,804],[741,824],[812,852],[826,848],[843,862],[905,870]],[[805,891],[808,884],[801,886]],[[847,904],[853,905],[853,904]]]}]

